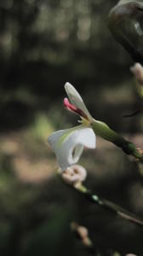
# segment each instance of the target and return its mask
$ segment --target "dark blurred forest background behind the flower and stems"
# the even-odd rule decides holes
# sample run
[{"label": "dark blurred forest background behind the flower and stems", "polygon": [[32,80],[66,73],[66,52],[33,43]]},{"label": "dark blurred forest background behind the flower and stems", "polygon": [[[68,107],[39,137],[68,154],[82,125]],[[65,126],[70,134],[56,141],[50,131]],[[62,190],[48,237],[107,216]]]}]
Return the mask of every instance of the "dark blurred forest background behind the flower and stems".
[{"label": "dark blurred forest background behind the flower and stems", "polygon": [[[141,105],[129,67],[112,38],[113,0],[0,0],[0,253],[2,255],[142,255],[143,230],[90,204],[56,176],[47,137],[77,124],[66,113],[73,84],[95,119],[142,146]],[[94,193],[143,215],[142,173],[123,152],[97,138],[80,164]],[[89,229],[94,253],[70,230]]]}]

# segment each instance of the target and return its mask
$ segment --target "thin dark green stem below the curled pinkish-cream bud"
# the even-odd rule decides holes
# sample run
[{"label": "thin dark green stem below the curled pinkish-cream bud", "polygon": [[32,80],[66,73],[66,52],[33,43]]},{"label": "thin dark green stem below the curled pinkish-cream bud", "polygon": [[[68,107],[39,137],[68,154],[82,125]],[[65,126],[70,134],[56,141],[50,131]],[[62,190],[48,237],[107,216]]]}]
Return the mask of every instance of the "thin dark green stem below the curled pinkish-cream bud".
[{"label": "thin dark green stem below the curled pinkish-cream bud", "polygon": [[127,210],[123,209],[123,207],[119,207],[118,205],[112,203],[112,201],[107,201],[106,199],[101,198],[99,195],[94,195],[91,190],[84,187],[82,184],[79,184],[75,187],[77,191],[83,194],[89,201],[93,201],[94,203],[98,204],[100,207],[104,207],[107,210],[110,210],[117,214],[120,218],[128,220],[134,224],[138,224],[143,226],[143,220],[137,218],[134,214],[128,212]]}]

